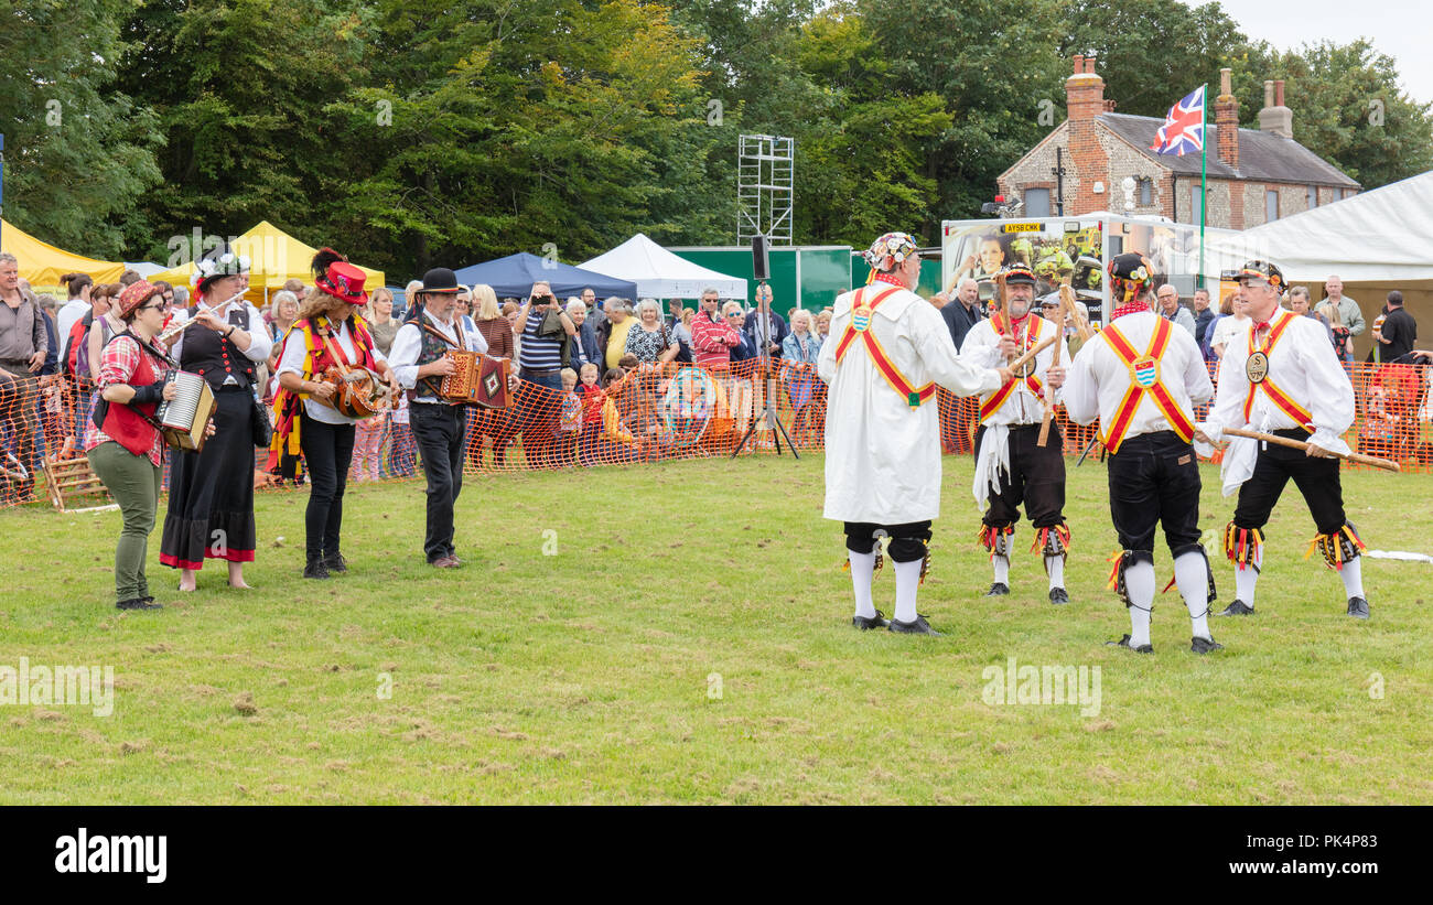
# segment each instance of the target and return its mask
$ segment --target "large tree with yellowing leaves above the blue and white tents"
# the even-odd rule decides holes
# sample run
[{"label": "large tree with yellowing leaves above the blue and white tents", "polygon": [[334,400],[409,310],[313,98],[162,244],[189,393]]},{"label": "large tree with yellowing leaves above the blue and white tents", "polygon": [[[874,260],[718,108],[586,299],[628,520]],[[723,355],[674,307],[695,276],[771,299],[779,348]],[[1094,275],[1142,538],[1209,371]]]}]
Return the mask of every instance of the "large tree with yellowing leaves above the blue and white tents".
[{"label": "large tree with yellowing leaves above the blue and white tents", "polygon": [[[348,208],[394,258],[580,261],[653,212],[663,238],[705,216],[684,202],[705,153],[695,42],[663,7],[394,0],[378,29],[381,87],[338,106],[377,160]],[[373,125],[383,102],[391,120]]]}]

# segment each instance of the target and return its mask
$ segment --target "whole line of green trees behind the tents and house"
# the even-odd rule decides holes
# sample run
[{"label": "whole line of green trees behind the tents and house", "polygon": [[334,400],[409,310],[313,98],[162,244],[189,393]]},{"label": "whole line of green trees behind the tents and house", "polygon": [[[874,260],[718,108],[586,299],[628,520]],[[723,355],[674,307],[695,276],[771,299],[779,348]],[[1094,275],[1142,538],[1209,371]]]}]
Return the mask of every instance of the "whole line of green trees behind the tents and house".
[{"label": "whole line of green trees behind the tents and house", "polygon": [[1433,168],[1433,105],[1367,40],[1280,52],[1217,3],[30,0],[3,23],[6,218],[105,258],[261,219],[397,274],[731,243],[742,132],[795,137],[797,242],[934,241],[1063,119],[1075,53],[1122,113],[1228,66],[1245,126],[1285,79],[1294,137],[1366,188]]}]

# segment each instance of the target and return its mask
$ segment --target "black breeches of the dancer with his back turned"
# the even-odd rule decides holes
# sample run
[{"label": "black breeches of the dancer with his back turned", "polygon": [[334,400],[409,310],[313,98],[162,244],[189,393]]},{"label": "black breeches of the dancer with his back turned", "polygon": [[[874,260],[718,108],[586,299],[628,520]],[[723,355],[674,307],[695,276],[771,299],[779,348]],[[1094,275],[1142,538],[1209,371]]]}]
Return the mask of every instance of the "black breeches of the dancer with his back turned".
[{"label": "black breeches of the dancer with his back turned", "polygon": [[1109,516],[1131,563],[1154,561],[1155,527],[1175,557],[1199,547],[1199,463],[1174,431],[1141,434],[1109,457]]}]

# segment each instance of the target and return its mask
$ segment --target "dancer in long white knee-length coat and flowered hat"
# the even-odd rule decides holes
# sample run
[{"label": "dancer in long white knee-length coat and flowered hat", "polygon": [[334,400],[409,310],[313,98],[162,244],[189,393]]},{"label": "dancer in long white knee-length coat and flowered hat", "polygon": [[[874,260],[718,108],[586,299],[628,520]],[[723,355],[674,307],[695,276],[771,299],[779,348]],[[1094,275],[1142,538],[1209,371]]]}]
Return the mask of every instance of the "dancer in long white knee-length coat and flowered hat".
[{"label": "dancer in long white knee-length coat and flowered hat", "polygon": [[[873,282],[835,299],[831,341],[817,369],[830,385],[825,420],[825,517],[845,523],[857,629],[940,634],[916,611],[940,514],[940,420],[936,384],[956,395],[992,392],[1010,369],[960,361],[940,312],[913,292],[916,241],[888,232],[866,252]],[[896,617],[871,601],[887,536],[896,563]]]}]

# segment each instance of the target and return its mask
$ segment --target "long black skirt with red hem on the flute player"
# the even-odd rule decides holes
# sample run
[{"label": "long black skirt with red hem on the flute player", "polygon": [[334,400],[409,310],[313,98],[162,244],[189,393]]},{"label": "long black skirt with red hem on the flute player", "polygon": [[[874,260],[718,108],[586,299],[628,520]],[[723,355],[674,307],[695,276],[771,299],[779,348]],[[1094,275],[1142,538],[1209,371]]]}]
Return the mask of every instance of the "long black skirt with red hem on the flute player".
[{"label": "long black skirt with red hem on the flute player", "polygon": [[173,568],[203,568],[205,558],[254,561],[254,397],[222,387],[214,398],[214,437],[201,452],[173,452],[169,465],[159,561]]}]

